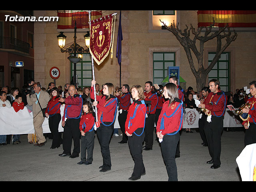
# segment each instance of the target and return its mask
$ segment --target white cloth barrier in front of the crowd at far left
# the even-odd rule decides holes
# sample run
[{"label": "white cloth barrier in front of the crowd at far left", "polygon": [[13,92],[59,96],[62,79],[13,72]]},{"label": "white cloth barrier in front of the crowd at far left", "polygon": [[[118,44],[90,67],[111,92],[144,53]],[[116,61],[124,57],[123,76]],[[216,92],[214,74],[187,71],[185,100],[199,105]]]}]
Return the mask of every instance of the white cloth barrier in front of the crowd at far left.
[{"label": "white cloth barrier in front of the crowd at far left", "polygon": [[[63,115],[64,105],[60,107],[60,114]],[[61,125],[62,120],[59,124],[59,132],[63,132]],[[50,133],[48,118],[44,119],[42,124],[43,133]],[[11,134],[34,134],[33,126],[33,114],[28,112],[26,106],[23,110],[15,112],[13,107],[1,107],[0,108],[0,135],[11,135]]]}]

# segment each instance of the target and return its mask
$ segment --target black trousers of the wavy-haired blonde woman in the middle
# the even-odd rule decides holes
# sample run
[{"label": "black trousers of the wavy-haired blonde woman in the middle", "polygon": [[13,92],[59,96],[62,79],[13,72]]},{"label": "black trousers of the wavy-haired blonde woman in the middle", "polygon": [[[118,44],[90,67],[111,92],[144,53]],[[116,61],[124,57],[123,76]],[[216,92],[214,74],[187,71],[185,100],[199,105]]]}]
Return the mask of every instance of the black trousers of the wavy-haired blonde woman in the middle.
[{"label": "black trousers of the wavy-haired blonde woman in the middle", "polygon": [[[142,131],[143,128],[138,128],[135,133],[140,135]],[[142,159],[142,143],[144,141],[145,132],[143,132],[141,136],[137,136],[136,134],[133,133],[132,136],[128,137],[128,144],[132,159],[134,160],[132,176],[140,178],[141,174],[146,172]]]}]

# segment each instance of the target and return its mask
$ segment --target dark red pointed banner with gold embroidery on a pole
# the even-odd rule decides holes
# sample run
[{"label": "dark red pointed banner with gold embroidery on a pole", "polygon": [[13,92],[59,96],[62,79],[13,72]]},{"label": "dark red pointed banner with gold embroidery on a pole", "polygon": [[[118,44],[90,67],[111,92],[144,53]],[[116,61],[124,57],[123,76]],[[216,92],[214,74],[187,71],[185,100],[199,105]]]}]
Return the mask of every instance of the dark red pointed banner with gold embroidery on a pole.
[{"label": "dark red pointed banner with gold embroidery on a pole", "polygon": [[112,43],[112,15],[92,20],[90,26],[90,54],[100,65],[108,56]]}]

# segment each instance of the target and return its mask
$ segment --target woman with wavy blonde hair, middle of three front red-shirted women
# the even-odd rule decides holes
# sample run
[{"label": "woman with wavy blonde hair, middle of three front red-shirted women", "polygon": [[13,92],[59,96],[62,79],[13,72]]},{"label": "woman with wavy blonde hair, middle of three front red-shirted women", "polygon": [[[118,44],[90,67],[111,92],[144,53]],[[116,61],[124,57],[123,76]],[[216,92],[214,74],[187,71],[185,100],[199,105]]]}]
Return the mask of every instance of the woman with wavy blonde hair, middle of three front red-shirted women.
[{"label": "woman with wavy blonde hair, middle of three front red-shirted women", "polygon": [[134,169],[129,180],[138,180],[145,175],[145,167],[142,160],[142,143],[145,133],[146,105],[144,91],[140,85],[134,85],[131,89],[134,102],[130,105],[125,122],[125,133],[128,136],[130,152],[134,160]]}]

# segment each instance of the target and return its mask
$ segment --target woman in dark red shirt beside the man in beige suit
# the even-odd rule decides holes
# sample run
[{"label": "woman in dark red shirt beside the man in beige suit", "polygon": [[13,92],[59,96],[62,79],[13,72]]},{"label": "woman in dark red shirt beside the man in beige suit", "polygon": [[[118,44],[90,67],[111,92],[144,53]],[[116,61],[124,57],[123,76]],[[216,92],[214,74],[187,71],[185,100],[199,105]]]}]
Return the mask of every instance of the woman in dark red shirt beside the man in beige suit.
[{"label": "woman in dark red shirt beside the man in beige suit", "polygon": [[57,87],[54,87],[50,90],[50,101],[45,110],[46,117],[49,117],[49,128],[52,133],[52,146],[51,149],[56,149],[62,144],[61,132],[59,132],[59,124],[61,120],[60,115],[60,106],[59,102],[60,94]]}]

